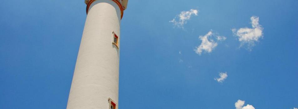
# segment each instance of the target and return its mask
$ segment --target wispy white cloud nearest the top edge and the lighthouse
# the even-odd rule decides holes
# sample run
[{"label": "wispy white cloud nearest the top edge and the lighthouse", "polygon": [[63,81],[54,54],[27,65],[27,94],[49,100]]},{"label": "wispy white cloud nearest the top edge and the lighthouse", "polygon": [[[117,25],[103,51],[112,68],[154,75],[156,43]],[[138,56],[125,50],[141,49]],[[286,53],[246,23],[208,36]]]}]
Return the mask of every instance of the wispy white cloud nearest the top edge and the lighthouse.
[{"label": "wispy white cloud nearest the top edge and the lighthouse", "polygon": [[191,16],[198,16],[198,10],[191,9],[189,11],[182,11],[179,15],[177,15],[173,20],[169,21],[172,22],[174,26],[183,28],[183,25],[187,23]]}]

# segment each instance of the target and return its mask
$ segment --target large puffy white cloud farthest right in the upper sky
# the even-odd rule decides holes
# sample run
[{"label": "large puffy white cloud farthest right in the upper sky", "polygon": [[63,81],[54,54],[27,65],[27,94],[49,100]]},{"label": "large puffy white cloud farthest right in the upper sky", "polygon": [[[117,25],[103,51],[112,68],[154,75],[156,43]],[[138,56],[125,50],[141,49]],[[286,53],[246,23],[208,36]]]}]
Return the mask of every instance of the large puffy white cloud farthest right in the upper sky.
[{"label": "large puffy white cloud farthest right in the upper sky", "polygon": [[235,36],[239,38],[240,47],[247,44],[249,50],[258,42],[260,38],[263,38],[263,27],[259,25],[259,17],[250,17],[252,28],[240,28],[232,29]]}]

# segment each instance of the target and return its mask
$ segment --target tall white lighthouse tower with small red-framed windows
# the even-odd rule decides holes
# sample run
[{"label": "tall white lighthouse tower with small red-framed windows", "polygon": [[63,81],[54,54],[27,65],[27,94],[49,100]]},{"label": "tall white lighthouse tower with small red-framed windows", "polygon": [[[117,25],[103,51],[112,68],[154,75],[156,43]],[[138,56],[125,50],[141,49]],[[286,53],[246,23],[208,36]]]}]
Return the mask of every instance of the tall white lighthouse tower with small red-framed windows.
[{"label": "tall white lighthouse tower with small red-framed windows", "polygon": [[85,0],[67,109],[118,109],[120,22],[128,0]]}]

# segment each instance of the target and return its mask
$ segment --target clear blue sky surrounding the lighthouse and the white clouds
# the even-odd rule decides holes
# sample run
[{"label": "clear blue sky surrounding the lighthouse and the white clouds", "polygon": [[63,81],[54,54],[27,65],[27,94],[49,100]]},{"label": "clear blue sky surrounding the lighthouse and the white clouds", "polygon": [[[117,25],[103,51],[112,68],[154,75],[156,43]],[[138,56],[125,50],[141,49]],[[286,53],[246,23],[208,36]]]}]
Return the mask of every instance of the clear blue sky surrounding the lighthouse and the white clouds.
[{"label": "clear blue sky surrounding the lighthouse and the white clouds", "polygon": [[[297,5],[130,0],[121,21],[119,109],[235,109],[242,101],[256,109],[297,108]],[[66,108],[85,8],[83,0],[2,1],[1,109]],[[169,22],[191,9],[197,15],[183,28]],[[255,29],[251,17],[259,18],[262,35],[239,41],[239,29]],[[199,37],[211,30],[207,39],[216,46],[197,54]],[[219,73],[227,74],[220,82]]]}]

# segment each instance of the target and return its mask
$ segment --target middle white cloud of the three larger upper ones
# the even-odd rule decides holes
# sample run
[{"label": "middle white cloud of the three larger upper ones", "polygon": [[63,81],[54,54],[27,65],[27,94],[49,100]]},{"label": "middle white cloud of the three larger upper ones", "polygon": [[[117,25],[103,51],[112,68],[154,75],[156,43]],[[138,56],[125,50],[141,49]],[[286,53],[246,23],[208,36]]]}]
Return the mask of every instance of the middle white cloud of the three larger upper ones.
[{"label": "middle white cloud of the three larger upper ones", "polygon": [[[194,50],[197,54],[202,55],[203,51],[206,51],[208,53],[211,53],[212,50],[218,45],[217,42],[215,42],[214,40],[212,40],[210,37],[215,36],[212,33],[212,30],[209,31],[206,35],[204,36],[199,36],[199,39],[202,40],[201,45],[199,45],[198,47],[196,47],[196,50]],[[217,39],[219,39],[218,41],[222,41],[223,39],[225,40],[226,37],[224,36],[215,36]]]}]

